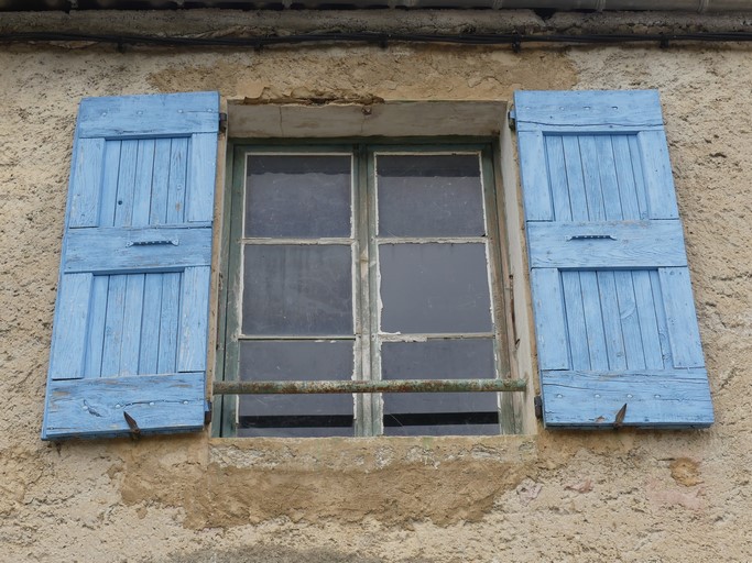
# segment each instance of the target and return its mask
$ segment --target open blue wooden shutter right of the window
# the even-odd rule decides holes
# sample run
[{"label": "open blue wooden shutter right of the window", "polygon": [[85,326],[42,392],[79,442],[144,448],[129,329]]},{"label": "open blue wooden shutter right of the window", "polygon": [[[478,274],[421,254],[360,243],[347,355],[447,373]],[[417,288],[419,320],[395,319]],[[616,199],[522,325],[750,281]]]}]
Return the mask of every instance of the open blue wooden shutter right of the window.
[{"label": "open blue wooden shutter right of the window", "polygon": [[515,112],[545,424],[711,424],[657,92]]}]

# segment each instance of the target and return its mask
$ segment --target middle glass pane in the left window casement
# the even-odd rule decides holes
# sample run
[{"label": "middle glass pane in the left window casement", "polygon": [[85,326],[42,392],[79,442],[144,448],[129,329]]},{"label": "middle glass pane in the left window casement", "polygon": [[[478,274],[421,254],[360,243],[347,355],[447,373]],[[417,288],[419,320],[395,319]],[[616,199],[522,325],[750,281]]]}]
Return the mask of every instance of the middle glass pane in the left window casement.
[{"label": "middle glass pane in the left window casement", "polygon": [[350,246],[248,244],[243,256],[243,334],[352,334]]}]

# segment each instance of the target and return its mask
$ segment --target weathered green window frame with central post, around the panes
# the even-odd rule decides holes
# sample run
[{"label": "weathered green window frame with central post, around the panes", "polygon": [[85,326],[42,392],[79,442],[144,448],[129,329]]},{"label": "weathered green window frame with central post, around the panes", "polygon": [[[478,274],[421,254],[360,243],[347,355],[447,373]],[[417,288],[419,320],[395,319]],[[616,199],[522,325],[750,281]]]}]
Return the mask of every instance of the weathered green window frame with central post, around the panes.
[{"label": "weathered green window frame with central post, around the panes", "polygon": [[[491,302],[493,307],[493,341],[498,378],[514,378],[516,366],[510,361],[510,349],[513,350],[515,335],[511,314],[511,282],[509,274],[508,241],[503,225],[504,201],[501,184],[500,142],[494,137],[364,137],[364,139],[263,139],[230,140],[227,151],[226,192],[222,209],[221,242],[219,254],[219,299],[218,299],[218,338],[215,366],[215,380],[237,380],[238,345],[233,331],[241,319],[238,303],[241,301],[241,289],[238,280],[241,272],[241,249],[243,202],[246,189],[246,158],[249,153],[276,154],[321,154],[350,153],[352,158],[352,218],[356,252],[366,245],[368,255],[377,252],[377,243],[371,233],[375,233],[375,214],[369,212],[375,206],[374,198],[374,162],[377,153],[478,153],[481,158],[481,179],[483,188],[483,210],[488,238],[489,275],[491,277]],[[362,229],[366,224],[367,229]],[[357,258],[355,258],[357,261]],[[362,363],[369,364],[369,372],[375,369],[378,351],[371,350],[370,336],[378,330],[377,308],[378,286],[373,283],[377,275],[369,261],[368,272],[356,275],[353,280],[353,308],[356,333],[363,334],[366,342],[357,354],[363,356]],[[366,279],[366,282],[363,282]],[[366,286],[367,289],[363,288]],[[360,303],[356,305],[356,301]],[[360,331],[360,332],[358,332]],[[355,340],[355,338],[353,338]],[[356,344],[357,345],[357,344]],[[368,349],[368,350],[362,350]],[[358,364],[356,364],[356,368]],[[358,374],[357,374],[358,375]],[[236,435],[237,395],[215,396],[212,435],[215,438],[232,438]],[[522,432],[522,413],[514,401],[514,394],[500,393],[499,426],[502,434]],[[380,394],[356,394],[356,437],[380,435],[382,429],[382,411]]]}]

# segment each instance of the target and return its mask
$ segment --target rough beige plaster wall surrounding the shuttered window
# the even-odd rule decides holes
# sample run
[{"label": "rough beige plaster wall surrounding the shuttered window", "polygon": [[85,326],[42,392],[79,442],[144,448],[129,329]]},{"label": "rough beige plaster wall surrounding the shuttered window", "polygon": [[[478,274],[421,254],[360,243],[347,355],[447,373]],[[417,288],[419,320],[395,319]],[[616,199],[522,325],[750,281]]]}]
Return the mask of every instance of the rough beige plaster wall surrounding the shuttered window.
[{"label": "rough beige plaster wall surrounding the shuttered window", "polygon": [[[135,22],[138,23],[138,21]],[[0,52],[0,561],[752,559],[750,47],[15,46]],[[717,420],[708,431],[480,441],[43,443],[76,106],[219,89],[508,99],[660,88]]]}]

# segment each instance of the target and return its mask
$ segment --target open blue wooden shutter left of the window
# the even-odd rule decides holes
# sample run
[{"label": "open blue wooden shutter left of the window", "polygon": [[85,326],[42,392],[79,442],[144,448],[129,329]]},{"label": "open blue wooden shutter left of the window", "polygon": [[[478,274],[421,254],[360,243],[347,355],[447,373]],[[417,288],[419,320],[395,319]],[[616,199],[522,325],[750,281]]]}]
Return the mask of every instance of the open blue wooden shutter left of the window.
[{"label": "open blue wooden shutter left of the window", "polygon": [[89,98],[73,148],[42,438],[204,426],[215,92]]}]

